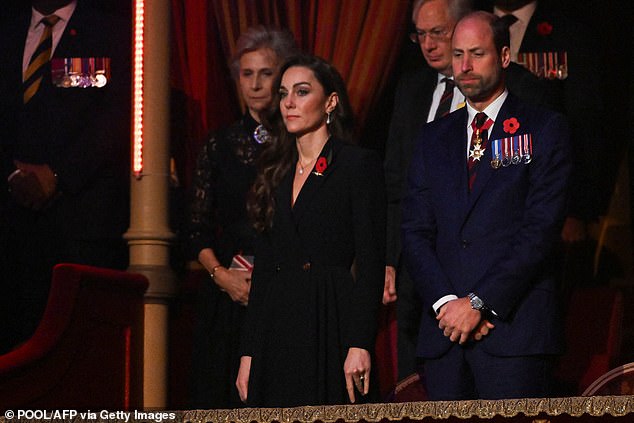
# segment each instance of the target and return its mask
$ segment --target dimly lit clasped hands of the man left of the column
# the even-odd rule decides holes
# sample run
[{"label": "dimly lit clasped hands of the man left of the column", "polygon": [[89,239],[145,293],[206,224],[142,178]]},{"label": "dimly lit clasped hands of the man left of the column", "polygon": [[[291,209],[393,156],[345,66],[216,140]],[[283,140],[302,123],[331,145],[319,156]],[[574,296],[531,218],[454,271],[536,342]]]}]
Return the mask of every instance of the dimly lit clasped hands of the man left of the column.
[{"label": "dimly lit clasped hands of the man left of the column", "polygon": [[55,173],[46,164],[14,161],[17,170],[8,179],[9,191],[15,201],[32,210],[43,209],[57,191]]}]

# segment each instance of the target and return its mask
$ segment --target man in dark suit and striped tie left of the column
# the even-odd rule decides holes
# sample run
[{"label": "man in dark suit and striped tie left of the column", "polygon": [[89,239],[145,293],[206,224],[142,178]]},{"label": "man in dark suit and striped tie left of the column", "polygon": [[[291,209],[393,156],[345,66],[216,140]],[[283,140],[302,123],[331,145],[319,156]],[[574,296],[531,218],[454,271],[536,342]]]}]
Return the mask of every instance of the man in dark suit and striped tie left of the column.
[{"label": "man in dark suit and striped tie left of the column", "polygon": [[[129,22],[90,4],[34,0],[0,29],[2,351],[33,333],[56,263],[127,266]],[[51,15],[53,60],[23,83]]]}]

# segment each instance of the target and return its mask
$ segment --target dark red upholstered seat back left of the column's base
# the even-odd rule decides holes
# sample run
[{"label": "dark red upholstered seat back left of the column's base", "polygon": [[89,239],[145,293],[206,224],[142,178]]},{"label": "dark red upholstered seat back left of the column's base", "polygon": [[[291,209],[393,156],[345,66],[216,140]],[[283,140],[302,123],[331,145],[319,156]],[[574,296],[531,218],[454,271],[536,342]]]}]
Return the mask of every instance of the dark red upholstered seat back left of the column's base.
[{"label": "dark red upholstered seat back left of the column's base", "polygon": [[57,265],[35,334],[0,356],[0,409],[142,407],[147,287],[140,274]]}]

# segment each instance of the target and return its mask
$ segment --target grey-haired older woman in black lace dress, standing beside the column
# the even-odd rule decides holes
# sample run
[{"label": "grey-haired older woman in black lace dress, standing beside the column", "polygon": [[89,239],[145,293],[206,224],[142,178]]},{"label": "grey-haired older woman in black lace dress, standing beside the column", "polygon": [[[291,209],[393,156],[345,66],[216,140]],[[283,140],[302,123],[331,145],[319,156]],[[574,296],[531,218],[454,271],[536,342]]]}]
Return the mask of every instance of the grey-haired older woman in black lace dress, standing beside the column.
[{"label": "grey-haired older woman in black lace dress, standing beside the column", "polygon": [[246,214],[246,195],[255,179],[254,162],[267,137],[259,132],[259,114],[271,104],[279,67],[294,52],[295,43],[287,31],[260,26],[240,36],[231,70],[247,111],[231,126],[210,134],[198,156],[187,243],[191,259],[205,267],[210,279],[198,298],[192,362],[194,408],[240,406],[234,382],[251,271],[231,268],[231,263],[236,255],[247,259],[253,255],[255,233]]}]

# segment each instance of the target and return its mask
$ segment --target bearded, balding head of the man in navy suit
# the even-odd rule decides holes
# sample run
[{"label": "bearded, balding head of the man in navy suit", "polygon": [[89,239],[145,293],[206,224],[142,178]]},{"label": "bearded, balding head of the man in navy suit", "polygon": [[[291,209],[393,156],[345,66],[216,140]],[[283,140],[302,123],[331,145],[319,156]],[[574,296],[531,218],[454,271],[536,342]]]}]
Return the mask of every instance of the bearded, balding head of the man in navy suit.
[{"label": "bearded, balding head of the man in navy suit", "polygon": [[483,110],[504,90],[504,73],[510,62],[508,47],[498,54],[493,31],[481,17],[458,23],[453,40],[453,74],[460,91],[478,110]]}]

